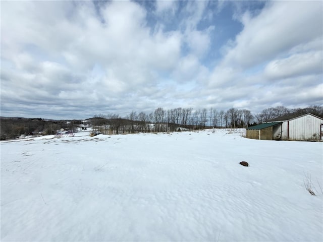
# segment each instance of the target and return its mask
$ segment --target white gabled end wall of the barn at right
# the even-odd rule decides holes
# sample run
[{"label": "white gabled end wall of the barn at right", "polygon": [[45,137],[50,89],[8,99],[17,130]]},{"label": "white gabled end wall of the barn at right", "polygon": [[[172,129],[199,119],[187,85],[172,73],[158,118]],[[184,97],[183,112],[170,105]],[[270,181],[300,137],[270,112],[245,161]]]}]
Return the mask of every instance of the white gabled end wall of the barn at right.
[{"label": "white gabled end wall of the barn at right", "polygon": [[290,140],[320,139],[320,125],[323,120],[312,115],[305,115],[289,121]]}]

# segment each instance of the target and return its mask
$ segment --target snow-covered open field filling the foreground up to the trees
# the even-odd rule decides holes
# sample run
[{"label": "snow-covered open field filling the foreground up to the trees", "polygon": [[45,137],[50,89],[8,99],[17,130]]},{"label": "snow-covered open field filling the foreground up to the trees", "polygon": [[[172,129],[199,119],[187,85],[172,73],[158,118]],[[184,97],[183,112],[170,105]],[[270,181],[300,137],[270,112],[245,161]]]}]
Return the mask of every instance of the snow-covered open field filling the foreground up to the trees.
[{"label": "snow-covered open field filling the foreground up to the trees", "polygon": [[322,142],[52,137],[1,142],[2,241],[323,239]]}]

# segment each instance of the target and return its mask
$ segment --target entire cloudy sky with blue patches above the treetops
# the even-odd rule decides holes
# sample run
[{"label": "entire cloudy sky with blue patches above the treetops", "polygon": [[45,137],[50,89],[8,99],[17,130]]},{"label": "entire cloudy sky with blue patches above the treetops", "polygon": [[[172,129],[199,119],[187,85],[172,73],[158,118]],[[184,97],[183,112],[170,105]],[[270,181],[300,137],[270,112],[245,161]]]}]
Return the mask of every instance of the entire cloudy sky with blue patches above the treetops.
[{"label": "entire cloudy sky with blue patches above the treetops", "polygon": [[1,1],[1,115],[323,104],[321,1]]}]

